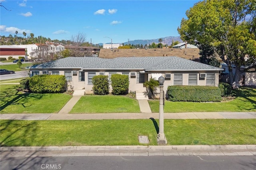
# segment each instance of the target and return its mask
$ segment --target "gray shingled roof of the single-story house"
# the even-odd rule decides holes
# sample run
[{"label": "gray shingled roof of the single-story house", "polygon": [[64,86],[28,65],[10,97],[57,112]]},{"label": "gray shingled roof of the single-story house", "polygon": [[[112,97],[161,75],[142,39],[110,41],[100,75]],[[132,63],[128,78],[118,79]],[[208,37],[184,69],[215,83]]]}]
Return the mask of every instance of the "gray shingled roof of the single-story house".
[{"label": "gray shingled roof of the single-story house", "polygon": [[33,68],[138,69],[138,70],[222,70],[180,57],[67,57],[32,66]]}]

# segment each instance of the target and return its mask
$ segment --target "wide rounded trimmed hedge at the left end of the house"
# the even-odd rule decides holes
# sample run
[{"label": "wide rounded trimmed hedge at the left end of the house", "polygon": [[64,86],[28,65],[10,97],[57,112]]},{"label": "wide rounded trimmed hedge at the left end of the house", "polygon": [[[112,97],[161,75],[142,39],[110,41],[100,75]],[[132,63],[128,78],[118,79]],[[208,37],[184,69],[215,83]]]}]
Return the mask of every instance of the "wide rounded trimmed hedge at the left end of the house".
[{"label": "wide rounded trimmed hedge at the left end of the house", "polygon": [[36,75],[29,80],[29,88],[33,93],[60,93],[66,90],[64,75]]}]

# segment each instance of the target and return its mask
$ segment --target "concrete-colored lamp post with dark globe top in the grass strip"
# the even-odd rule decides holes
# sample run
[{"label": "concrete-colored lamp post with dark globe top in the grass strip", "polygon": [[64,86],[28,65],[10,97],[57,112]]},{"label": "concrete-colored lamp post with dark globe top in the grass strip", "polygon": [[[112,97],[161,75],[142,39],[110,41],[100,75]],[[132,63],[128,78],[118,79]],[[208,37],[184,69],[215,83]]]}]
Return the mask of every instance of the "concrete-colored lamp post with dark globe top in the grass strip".
[{"label": "concrete-colored lamp post with dark globe top in the grass strip", "polygon": [[159,86],[160,86],[160,101],[159,101],[159,133],[157,144],[158,145],[166,145],[167,140],[164,135],[164,77],[160,76],[158,78]]}]

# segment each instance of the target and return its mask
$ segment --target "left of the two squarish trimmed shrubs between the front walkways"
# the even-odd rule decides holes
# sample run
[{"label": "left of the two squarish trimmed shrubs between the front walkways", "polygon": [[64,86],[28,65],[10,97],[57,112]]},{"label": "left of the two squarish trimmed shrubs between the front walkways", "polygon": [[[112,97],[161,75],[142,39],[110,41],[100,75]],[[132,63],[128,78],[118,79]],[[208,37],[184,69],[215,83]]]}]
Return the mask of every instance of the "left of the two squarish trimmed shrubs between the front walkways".
[{"label": "left of the two squarish trimmed shrubs between the front walkways", "polygon": [[98,75],[92,78],[92,90],[94,94],[106,95],[109,93],[108,76]]}]

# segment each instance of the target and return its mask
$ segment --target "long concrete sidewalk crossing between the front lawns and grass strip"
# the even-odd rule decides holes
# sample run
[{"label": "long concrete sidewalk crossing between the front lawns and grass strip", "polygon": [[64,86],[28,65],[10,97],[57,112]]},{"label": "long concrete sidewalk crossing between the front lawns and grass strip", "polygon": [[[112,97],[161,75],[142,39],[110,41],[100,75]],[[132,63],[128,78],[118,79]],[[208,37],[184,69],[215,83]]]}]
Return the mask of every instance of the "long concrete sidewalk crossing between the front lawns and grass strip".
[{"label": "long concrete sidewalk crossing between the front lawns and grass strip", "polygon": [[[100,119],[158,119],[158,113],[28,113],[0,114],[0,119],[15,120],[100,120]],[[256,119],[256,112],[191,112],[164,113],[164,119]]]}]

